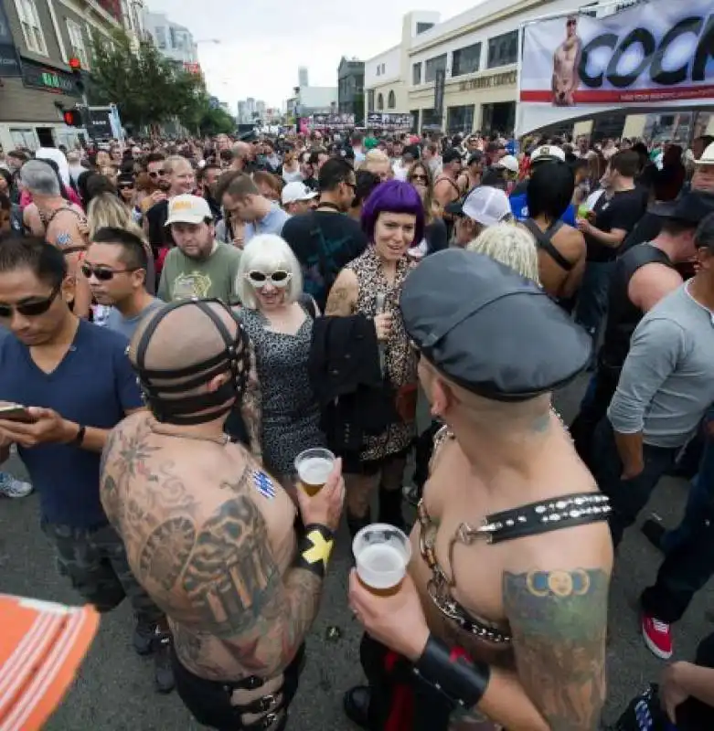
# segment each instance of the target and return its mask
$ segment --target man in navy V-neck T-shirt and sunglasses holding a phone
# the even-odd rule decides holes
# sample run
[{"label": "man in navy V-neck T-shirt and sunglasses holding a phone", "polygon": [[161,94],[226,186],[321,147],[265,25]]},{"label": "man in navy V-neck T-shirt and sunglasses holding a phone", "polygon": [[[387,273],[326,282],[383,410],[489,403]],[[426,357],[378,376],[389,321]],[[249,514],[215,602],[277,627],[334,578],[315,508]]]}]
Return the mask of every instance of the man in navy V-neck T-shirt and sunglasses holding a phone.
[{"label": "man in navy V-neck T-shirt and sunglasses holding a phone", "polygon": [[70,312],[67,273],[61,251],[41,239],[0,246],[0,325],[9,331],[0,339],[0,464],[16,444],[60,572],[100,611],[131,599],[134,648],[158,651],[155,680],[168,692],[164,615],[133,577],[99,497],[107,436],[143,401],[126,338]]}]

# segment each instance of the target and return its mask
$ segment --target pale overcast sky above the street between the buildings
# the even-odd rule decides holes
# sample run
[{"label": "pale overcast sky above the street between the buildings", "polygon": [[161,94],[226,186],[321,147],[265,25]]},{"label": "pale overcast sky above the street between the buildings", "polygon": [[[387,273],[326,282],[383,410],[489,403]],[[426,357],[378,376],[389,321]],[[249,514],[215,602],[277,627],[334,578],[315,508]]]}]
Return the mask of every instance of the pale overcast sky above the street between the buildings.
[{"label": "pale overcast sky above the street between the buildings", "polygon": [[151,10],[186,26],[198,43],[208,90],[228,101],[254,97],[280,106],[306,66],[311,86],[336,86],[340,58],[361,59],[400,42],[401,18],[416,8],[438,10],[442,20],[479,0],[147,0]]}]

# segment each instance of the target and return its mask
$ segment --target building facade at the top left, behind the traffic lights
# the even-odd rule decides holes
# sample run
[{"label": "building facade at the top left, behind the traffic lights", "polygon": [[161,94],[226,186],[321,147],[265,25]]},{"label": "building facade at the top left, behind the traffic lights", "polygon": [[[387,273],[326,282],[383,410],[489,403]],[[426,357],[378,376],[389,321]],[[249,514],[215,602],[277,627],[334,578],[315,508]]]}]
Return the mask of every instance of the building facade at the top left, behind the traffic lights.
[{"label": "building facade at the top left, behind the traffic lights", "polygon": [[[131,3],[121,0],[0,0],[0,144],[37,149],[73,147],[86,132],[68,127],[62,111],[82,101],[91,70],[91,37],[123,27]],[[9,39],[9,44],[7,43]],[[14,47],[14,48],[13,48]],[[8,62],[15,58],[16,64]],[[73,72],[70,59],[79,59]]]}]

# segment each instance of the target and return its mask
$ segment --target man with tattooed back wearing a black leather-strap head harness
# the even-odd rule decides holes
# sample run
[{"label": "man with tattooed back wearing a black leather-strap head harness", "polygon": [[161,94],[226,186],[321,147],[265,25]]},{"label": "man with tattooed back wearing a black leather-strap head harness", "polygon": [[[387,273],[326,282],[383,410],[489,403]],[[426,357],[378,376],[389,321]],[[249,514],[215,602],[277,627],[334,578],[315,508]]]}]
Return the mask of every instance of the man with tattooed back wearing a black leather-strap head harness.
[{"label": "man with tattooed back wearing a black leather-strap head harness", "polygon": [[280,482],[223,433],[254,371],[222,302],[167,305],[129,356],[149,412],[112,431],[101,501],[168,617],[176,689],[204,726],[281,731],[342,509],[341,463],[319,493],[299,493],[296,535]]}]

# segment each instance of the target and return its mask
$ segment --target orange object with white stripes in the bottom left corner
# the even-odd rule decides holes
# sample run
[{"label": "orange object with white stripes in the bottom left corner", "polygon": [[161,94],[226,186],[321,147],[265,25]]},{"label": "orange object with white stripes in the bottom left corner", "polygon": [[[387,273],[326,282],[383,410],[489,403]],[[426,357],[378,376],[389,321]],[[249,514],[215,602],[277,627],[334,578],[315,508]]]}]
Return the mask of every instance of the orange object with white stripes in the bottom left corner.
[{"label": "orange object with white stripes in the bottom left corner", "polygon": [[91,606],[0,594],[0,731],[38,731],[58,707],[99,627]]}]

